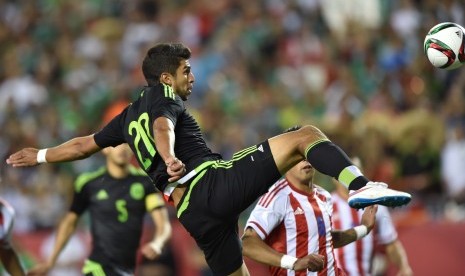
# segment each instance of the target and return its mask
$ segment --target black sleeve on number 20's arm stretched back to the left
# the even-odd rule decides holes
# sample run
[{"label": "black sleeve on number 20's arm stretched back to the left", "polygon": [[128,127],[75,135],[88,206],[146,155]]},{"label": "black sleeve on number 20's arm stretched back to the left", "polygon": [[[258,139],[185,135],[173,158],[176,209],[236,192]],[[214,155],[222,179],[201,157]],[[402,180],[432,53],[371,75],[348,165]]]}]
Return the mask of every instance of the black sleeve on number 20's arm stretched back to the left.
[{"label": "black sleeve on number 20's arm stretched back to the left", "polygon": [[128,107],[113,118],[99,132],[95,133],[94,140],[100,148],[116,147],[126,143],[123,129],[127,109]]}]

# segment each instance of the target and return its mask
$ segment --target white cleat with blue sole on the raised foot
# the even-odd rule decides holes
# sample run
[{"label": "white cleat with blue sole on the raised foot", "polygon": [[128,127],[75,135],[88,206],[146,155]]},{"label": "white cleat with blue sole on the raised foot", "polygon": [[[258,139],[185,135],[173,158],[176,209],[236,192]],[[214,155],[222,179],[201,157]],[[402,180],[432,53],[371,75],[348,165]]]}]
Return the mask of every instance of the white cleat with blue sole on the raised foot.
[{"label": "white cleat with blue sole on the raised foot", "polygon": [[389,189],[386,183],[368,182],[365,187],[349,192],[349,206],[355,209],[379,204],[398,207],[410,202],[412,196],[405,192]]}]

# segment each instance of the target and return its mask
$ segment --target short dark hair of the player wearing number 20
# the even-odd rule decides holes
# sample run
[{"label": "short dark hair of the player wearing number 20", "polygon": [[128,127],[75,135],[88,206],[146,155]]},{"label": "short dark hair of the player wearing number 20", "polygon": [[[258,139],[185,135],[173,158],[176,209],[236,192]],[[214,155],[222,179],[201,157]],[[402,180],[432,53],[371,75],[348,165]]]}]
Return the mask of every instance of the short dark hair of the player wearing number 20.
[{"label": "short dark hair of the player wearing number 20", "polygon": [[182,43],[159,43],[153,46],[142,62],[142,72],[147,84],[158,84],[163,72],[175,75],[181,60],[190,57],[191,50]]}]

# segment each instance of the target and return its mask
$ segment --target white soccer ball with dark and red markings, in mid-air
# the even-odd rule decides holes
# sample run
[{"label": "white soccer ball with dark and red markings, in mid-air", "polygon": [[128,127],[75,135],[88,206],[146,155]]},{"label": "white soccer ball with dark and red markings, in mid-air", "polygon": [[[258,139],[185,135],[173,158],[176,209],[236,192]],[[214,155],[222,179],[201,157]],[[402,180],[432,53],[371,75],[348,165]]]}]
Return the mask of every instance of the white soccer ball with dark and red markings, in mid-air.
[{"label": "white soccer ball with dark and red markings, in mid-air", "polygon": [[424,51],[434,67],[452,70],[465,62],[465,29],[457,23],[439,23],[425,37]]}]

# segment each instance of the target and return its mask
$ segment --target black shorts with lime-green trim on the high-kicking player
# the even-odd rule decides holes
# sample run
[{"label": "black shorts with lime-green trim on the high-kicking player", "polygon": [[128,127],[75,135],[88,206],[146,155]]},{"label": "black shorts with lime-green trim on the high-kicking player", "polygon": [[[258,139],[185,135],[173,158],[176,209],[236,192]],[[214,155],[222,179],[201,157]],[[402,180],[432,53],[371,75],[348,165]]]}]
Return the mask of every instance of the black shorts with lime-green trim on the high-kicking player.
[{"label": "black shorts with lime-green trim on the high-kicking player", "polygon": [[280,177],[265,141],[230,161],[216,161],[191,181],[177,206],[179,220],[215,275],[228,275],[242,265],[239,215]]}]

